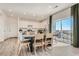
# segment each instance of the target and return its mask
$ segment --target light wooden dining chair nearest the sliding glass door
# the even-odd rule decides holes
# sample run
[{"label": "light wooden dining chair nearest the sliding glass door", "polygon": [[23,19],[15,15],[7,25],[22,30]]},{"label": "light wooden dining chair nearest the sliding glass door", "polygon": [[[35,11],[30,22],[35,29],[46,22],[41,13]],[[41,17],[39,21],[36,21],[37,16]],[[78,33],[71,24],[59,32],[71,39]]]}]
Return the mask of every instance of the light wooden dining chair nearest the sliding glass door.
[{"label": "light wooden dining chair nearest the sliding glass door", "polygon": [[45,49],[48,48],[48,47],[52,48],[52,44],[53,44],[53,34],[52,33],[46,33]]}]

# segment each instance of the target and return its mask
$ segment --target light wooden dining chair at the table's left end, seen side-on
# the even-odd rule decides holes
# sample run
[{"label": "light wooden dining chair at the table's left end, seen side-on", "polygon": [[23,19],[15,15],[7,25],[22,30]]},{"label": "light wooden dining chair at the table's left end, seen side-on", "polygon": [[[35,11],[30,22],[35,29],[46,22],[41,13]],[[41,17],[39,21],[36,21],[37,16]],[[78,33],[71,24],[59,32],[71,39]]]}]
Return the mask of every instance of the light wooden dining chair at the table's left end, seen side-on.
[{"label": "light wooden dining chair at the table's left end, seen side-on", "polygon": [[17,55],[20,55],[22,52],[22,48],[25,47],[26,48],[26,53],[30,52],[30,42],[28,42],[28,39],[24,40],[24,41],[20,41],[18,40],[18,51],[17,51]]}]

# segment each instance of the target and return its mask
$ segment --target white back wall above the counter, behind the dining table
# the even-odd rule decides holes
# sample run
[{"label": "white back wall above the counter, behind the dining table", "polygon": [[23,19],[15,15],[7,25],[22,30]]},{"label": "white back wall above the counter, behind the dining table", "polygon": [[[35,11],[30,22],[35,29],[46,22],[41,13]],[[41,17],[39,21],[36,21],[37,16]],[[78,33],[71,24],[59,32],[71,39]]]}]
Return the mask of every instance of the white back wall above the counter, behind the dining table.
[{"label": "white back wall above the counter, behind the dining table", "polygon": [[49,17],[46,18],[42,22],[35,22],[35,21],[28,21],[28,20],[20,20],[19,21],[19,28],[27,28],[28,25],[32,25],[33,28],[46,28],[49,30]]}]

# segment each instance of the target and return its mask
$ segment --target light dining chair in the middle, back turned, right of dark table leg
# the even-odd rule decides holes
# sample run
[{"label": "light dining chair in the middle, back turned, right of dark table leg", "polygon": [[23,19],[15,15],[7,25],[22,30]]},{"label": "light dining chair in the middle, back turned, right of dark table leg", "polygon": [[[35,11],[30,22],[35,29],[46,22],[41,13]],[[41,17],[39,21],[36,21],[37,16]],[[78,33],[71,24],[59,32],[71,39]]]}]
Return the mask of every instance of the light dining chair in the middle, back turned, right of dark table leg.
[{"label": "light dining chair in the middle, back turned, right of dark table leg", "polygon": [[34,53],[36,54],[37,48],[41,48],[43,51],[43,39],[44,34],[36,34],[34,39]]}]

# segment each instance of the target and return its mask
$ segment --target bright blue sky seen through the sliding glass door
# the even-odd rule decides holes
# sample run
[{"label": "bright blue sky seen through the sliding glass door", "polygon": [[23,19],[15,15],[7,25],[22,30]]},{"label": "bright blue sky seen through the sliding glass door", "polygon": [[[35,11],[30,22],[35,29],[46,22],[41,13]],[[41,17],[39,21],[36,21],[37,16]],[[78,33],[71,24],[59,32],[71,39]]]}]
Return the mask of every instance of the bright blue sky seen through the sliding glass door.
[{"label": "bright blue sky seen through the sliding glass door", "polygon": [[72,19],[69,17],[63,20],[56,21],[56,30],[61,30],[61,25],[62,25],[62,30],[71,30]]}]

